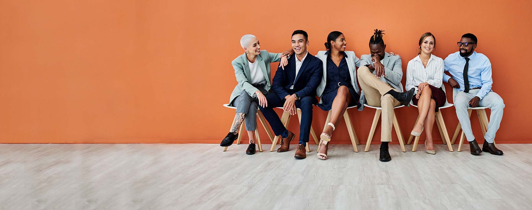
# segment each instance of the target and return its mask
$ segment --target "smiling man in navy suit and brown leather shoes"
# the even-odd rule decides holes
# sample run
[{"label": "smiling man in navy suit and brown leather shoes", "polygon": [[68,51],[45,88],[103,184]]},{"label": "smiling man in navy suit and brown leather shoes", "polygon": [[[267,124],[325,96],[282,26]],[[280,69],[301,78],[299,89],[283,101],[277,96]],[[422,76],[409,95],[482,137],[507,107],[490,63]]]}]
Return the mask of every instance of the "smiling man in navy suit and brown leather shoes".
[{"label": "smiling man in navy suit and brown leather shoes", "polygon": [[266,107],[259,106],[264,117],[270,123],[275,135],[281,136],[281,147],[277,152],[286,152],[290,141],[294,140],[294,133],[286,130],[282,125],[274,107],[281,107],[284,111],[295,115],[296,108],[301,109],[300,140],[297,146],[295,158],[306,157],[305,146],[309,142],[310,126],[312,123],[312,106],[318,102],[316,88],[323,74],[322,61],[311,55],[306,47],[309,46],[309,36],[303,30],[292,33],[292,49],[295,56],[288,59],[288,66],[283,70],[277,68],[271,84],[271,90],[275,94],[268,94]]}]

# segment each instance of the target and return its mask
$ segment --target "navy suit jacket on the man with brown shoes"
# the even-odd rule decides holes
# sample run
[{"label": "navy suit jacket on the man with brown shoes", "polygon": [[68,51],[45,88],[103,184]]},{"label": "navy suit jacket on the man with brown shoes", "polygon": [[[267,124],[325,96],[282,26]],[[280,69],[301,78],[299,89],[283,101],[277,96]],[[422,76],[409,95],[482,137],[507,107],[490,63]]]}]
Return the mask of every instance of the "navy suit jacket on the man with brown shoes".
[{"label": "navy suit jacket on the man with brown shoes", "polygon": [[[316,88],[320,85],[321,77],[323,76],[323,62],[307,52],[306,58],[301,64],[301,69],[296,75],[296,55],[294,54],[288,59],[288,65],[283,70],[281,67],[277,68],[275,76],[273,76],[271,89],[282,100],[285,96],[290,95],[290,86],[294,85],[293,91],[295,94],[303,98],[305,96],[313,96],[316,98]],[[295,82],[294,82],[295,80]]]}]

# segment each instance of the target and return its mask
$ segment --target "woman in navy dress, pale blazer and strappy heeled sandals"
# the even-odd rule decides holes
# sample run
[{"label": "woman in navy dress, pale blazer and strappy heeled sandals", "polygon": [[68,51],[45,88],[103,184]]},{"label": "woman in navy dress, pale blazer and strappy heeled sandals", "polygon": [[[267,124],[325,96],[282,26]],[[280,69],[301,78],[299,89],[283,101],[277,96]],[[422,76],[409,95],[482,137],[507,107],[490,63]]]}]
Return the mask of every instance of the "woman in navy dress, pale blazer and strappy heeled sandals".
[{"label": "woman in navy dress, pale blazer and strappy heeled sandals", "polygon": [[318,107],[325,111],[332,110],[330,123],[320,135],[318,158],[323,160],[327,159],[327,143],[340,116],[344,115],[347,107],[361,106],[356,83],[356,67],[360,66],[360,59],[353,51],[345,51],[346,44],[344,34],[332,31],[325,43],[327,51],[320,51],[316,55],[323,61],[323,77],[317,89],[317,95],[321,98]]}]

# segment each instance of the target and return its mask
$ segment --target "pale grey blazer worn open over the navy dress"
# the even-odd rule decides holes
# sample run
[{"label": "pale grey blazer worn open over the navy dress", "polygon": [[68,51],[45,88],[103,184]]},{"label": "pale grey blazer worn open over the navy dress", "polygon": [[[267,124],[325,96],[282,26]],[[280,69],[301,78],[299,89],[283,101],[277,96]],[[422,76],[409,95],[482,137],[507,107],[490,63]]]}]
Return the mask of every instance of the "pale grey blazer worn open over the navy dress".
[{"label": "pale grey blazer worn open over the navy dress", "polygon": [[[321,77],[321,83],[316,89],[316,95],[321,98],[321,94],[323,94],[323,90],[325,90],[325,86],[327,85],[327,55],[325,54],[327,51],[319,51],[316,57],[318,57],[323,62],[323,76]],[[353,51],[345,51],[345,54],[347,55],[345,60],[347,61],[347,68],[349,68],[349,75],[351,76],[351,85],[355,88],[356,93],[359,92],[359,84],[356,80],[356,68],[360,66],[360,59],[356,57],[355,52]],[[320,99],[321,103],[321,99]]]}]

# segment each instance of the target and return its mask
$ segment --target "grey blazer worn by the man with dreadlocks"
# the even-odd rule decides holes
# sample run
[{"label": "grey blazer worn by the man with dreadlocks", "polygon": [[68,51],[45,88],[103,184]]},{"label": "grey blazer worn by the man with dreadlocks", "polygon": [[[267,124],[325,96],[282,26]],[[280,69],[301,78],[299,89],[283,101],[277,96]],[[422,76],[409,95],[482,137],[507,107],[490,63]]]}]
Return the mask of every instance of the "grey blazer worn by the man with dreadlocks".
[{"label": "grey blazer worn by the man with dreadlocks", "polygon": [[[360,56],[360,66],[365,66],[372,64],[371,54]],[[403,63],[401,63],[401,56],[399,55],[390,55],[387,52],[384,52],[384,59],[381,61],[384,65],[384,73],[386,76],[380,77],[380,80],[384,83],[392,85],[398,91],[403,92],[403,84],[401,84],[401,79],[403,79]],[[364,92],[360,91],[360,103],[364,104],[366,102]],[[364,106],[359,108],[359,111],[362,111]]]}]

